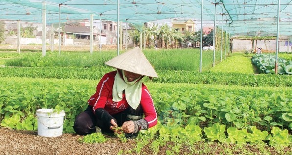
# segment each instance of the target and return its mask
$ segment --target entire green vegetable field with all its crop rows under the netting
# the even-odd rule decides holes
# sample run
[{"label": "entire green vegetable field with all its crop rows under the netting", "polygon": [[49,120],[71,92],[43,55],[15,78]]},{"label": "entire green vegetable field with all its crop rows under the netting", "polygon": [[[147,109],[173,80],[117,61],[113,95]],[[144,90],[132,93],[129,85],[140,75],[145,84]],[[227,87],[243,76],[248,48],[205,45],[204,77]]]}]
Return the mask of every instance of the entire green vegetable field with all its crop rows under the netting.
[{"label": "entire green vegetable field with all its crop rows under the netting", "polygon": [[[144,53],[159,76],[143,79],[152,95],[158,124],[141,131],[134,142],[122,135],[97,133],[80,136],[77,144],[118,140],[121,145],[130,141],[135,145],[120,148],[119,155],[217,155],[212,152],[214,144],[224,155],[239,155],[236,148],[244,155],[292,154],[289,65],[282,67],[288,73],[265,74],[255,69],[251,57],[231,54],[220,62],[220,52],[216,52],[212,68],[213,51],[204,51],[200,73],[198,49],[147,49]],[[53,108],[65,111],[63,133],[74,135],[76,115],[87,107],[103,74],[114,70],[104,62],[115,54],[48,52],[42,57],[40,52],[0,53],[5,59],[0,61],[5,65],[0,68],[1,128],[36,131],[36,110]]]}]

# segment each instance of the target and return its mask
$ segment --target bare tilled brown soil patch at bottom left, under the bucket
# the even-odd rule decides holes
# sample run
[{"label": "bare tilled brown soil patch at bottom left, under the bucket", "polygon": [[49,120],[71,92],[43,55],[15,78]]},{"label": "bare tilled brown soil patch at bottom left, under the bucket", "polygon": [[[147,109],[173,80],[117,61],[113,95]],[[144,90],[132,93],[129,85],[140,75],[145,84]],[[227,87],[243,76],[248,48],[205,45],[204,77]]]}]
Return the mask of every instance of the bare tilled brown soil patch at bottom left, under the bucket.
[{"label": "bare tilled brown soil patch at bottom left, under the bucket", "polygon": [[42,137],[36,131],[0,128],[0,155],[117,155],[121,150],[130,150],[135,143],[111,137],[104,143],[85,144],[78,142],[82,137],[64,133],[59,137]]}]

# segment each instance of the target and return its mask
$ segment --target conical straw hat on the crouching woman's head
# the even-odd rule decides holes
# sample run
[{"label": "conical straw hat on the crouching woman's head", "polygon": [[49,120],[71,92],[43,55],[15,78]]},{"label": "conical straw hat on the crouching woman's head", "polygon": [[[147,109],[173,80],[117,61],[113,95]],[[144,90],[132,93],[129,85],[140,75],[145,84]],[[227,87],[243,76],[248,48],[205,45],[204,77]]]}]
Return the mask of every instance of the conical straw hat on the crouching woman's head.
[{"label": "conical straw hat on the crouching woman's head", "polygon": [[132,73],[158,78],[154,68],[139,47],[120,54],[105,62],[105,64]]}]

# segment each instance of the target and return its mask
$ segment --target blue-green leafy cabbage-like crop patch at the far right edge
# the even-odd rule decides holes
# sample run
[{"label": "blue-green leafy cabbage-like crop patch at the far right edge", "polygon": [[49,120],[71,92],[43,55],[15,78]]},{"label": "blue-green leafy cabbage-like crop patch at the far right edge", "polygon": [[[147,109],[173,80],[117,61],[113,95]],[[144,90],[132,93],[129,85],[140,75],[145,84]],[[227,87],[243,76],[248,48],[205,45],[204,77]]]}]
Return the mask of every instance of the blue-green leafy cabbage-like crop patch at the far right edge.
[{"label": "blue-green leafy cabbage-like crop patch at the far right edge", "polygon": [[[254,64],[261,73],[275,73],[275,56],[271,54],[255,54],[251,58]],[[278,58],[277,64],[278,74],[292,75],[292,61],[287,61],[283,58]]]}]

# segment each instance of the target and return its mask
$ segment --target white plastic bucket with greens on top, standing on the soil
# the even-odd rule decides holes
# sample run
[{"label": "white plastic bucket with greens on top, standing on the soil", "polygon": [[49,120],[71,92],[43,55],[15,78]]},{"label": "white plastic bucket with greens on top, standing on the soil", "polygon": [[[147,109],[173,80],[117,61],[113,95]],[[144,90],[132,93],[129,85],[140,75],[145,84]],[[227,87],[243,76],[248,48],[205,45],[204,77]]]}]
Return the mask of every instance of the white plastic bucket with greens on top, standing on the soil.
[{"label": "white plastic bucket with greens on top, standing on the soil", "polygon": [[38,135],[44,137],[61,136],[63,132],[63,118],[65,112],[54,112],[53,109],[38,109]]}]

